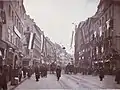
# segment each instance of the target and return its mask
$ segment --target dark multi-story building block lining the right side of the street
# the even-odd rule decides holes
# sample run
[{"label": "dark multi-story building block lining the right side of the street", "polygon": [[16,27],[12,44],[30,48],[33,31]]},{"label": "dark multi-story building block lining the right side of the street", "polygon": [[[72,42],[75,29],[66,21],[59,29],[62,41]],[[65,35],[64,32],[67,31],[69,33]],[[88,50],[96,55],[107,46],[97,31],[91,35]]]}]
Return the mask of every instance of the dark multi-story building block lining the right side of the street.
[{"label": "dark multi-story building block lining the right side of the street", "polygon": [[[82,22],[79,24],[75,35],[76,60],[88,59],[91,60],[91,65],[98,63],[99,67],[103,65],[107,70],[113,67],[119,68],[119,10],[119,0],[100,0],[95,15],[84,24],[81,25]],[[81,58],[80,55],[85,56]]]}]

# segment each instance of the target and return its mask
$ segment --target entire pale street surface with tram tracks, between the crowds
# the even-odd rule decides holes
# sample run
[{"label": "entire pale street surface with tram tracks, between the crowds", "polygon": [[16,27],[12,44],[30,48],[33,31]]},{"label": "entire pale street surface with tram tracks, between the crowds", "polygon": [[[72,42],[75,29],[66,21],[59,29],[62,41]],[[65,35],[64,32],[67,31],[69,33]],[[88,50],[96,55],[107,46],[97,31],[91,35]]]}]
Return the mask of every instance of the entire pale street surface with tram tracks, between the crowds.
[{"label": "entire pale street surface with tram tracks, between the crowds", "polygon": [[[120,88],[120,85],[115,85],[111,82],[110,84],[105,84],[107,77],[104,81],[100,82],[99,78],[94,80],[90,76],[80,75],[66,75],[63,74],[60,81],[57,81],[56,76],[53,74],[48,74],[47,78],[40,78],[38,82],[35,81],[35,76],[33,75],[30,79],[27,79],[21,85],[19,85],[15,90],[41,90],[41,89],[113,89]],[[98,81],[97,81],[98,80]],[[90,82],[91,81],[91,82]],[[106,85],[106,86],[105,86]]]}]

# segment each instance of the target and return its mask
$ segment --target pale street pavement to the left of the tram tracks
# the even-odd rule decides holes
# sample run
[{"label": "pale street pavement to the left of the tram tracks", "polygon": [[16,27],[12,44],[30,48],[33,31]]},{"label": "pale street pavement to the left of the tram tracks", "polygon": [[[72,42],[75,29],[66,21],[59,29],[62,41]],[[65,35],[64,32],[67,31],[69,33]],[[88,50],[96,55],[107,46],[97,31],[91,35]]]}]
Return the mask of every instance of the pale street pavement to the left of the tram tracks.
[{"label": "pale street pavement to the left of the tram tracks", "polygon": [[42,90],[42,89],[63,89],[59,81],[54,75],[48,75],[47,78],[40,78],[38,82],[35,80],[35,75],[30,79],[20,84],[15,90]]}]

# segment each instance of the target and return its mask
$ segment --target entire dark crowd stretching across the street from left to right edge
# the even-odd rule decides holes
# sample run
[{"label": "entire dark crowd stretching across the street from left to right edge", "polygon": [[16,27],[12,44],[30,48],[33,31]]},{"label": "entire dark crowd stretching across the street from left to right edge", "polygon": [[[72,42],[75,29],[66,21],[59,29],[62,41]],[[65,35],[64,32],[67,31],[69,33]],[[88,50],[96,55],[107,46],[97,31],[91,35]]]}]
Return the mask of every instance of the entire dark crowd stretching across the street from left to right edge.
[{"label": "entire dark crowd stretching across the street from left to right edge", "polygon": [[[12,65],[0,65],[0,90],[7,90],[7,83],[11,81],[11,85],[15,85],[15,77],[18,78],[18,82],[21,82],[22,78],[30,78],[32,74],[35,73],[35,79],[38,82],[40,77],[47,78],[48,71],[50,74],[56,74],[57,80],[59,81],[61,77],[61,71],[64,69],[66,74],[77,74],[82,73],[83,75],[99,75],[100,81],[104,79],[105,70],[104,67],[99,69],[82,69],[75,66],[74,64],[68,63],[65,68],[62,68],[60,65],[55,64],[54,62],[50,65],[47,64],[37,64],[35,66],[15,66],[14,69]],[[116,70],[115,81],[117,84],[120,84],[120,69]]]}]

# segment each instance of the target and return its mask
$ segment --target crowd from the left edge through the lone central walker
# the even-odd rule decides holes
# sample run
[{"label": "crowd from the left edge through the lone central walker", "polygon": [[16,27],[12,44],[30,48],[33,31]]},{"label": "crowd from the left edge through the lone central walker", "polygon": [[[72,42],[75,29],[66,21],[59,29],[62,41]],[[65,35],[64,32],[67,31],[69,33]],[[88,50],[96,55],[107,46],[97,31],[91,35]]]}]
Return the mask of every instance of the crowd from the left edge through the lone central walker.
[{"label": "crowd from the left edge through the lone central walker", "polygon": [[15,78],[18,82],[21,82],[22,78],[30,78],[32,74],[35,73],[36,81],[39,81],[40,77],[47,78],[47,72],[55,74],[57,80],[61,77],[62,68],[55,63],[51,63],[50,66],[47,64],[38,64],[34,66],[15,66],[12,65],[0,65],[0,90],[7,90],[8,82],[11,82],[11,85],[17,85]]}]

